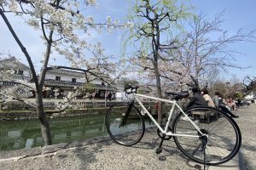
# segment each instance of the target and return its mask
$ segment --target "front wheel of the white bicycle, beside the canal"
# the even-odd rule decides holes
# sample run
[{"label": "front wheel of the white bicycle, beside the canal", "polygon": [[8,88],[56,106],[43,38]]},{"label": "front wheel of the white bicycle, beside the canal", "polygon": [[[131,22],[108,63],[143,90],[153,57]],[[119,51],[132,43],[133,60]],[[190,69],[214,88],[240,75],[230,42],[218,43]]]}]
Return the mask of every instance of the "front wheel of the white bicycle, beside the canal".
[{"label": "front wheel of the white bicycle, beside the canal", "polygon": [[129,103],[113,105],[108,110],[105,120],[108,134],[117,144],[131,146],[143,138],[145,123],[142,114],[134,105]]}]

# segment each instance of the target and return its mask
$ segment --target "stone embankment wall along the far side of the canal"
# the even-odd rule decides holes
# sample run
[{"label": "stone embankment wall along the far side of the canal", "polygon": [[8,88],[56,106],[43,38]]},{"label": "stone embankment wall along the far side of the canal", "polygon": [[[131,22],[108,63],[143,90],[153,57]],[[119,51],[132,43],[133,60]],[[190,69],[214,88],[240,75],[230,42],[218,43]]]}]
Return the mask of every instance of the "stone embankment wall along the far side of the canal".
[{"label": "stone embankment wall along the far side of the canal", "polygon": [[[34,99],[27,99],[28,102],[33,102]],[[89,100],[89,99],[75,99],[65,112],[55,113],[58,103],[63,102],[61,99],[45,99],[44,109],[47,116],[81,116],[81,115],[92,115],[92,114],[105,114],[110,105],[115,102],[107,102],[105,107],[104,100]],[[22,120],[38,118],[37,112],[30,106],[21,103],[20,101],[9,101],[7,104],[0,106],[0,120]]]}]

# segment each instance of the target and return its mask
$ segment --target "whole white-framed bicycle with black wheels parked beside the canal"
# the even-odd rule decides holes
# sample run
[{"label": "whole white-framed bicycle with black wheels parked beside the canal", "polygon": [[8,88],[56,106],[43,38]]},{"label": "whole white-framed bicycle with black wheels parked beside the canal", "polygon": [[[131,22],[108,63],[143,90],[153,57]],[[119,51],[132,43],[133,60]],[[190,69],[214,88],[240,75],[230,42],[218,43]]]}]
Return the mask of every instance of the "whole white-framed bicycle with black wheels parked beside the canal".
[{"label": "whole white-framed bicycle with black wheels parked beside the canal", "polygon": [[[177,105],[177,101],[187,98],[189,93],[169,93],[174,97],[171,100],[137,94],[137,87],[133,86],[125,88],[125,93],[133,96],[131,102],[111,106],[105,117],[108,134],[117,144],[131,146],[143,138],[145,122],[141,111],[135,105],[136,101],[157,127],[161,139],[160,146],[155,151],[157,154],[162,151],[163,141],[171,138],[185,156],[204,165],[218,165],[230,161],[240,150],[241,132],[228,114],[209,106],[195,106],[183,111]],[[166,125],[161,126],[154,120],[140,98],[172,104]],[[172,119],[175,109],[179,114]],[[202,116],[211,118],[207,117],[206,122]]]}]

